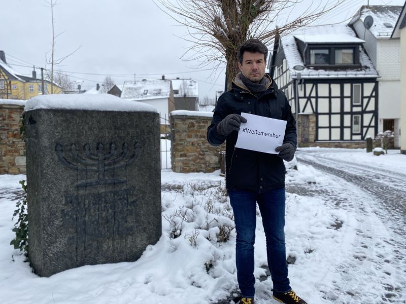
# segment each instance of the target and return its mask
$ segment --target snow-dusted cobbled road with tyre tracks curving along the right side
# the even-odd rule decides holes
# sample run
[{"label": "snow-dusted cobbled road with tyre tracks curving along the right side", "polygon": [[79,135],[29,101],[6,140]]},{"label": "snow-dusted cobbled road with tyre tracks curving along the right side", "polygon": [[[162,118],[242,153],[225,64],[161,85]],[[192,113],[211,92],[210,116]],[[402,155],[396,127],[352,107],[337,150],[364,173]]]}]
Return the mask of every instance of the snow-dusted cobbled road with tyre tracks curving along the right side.
[{"label": "snow-dusted cobbled road with tyre tracks curving along the right side", "polygon": [[[326,184],[291,183],[288,191],[319,197],[331,207],[346,210],[356,232],[342,239],[343,252],[337,252],[341,258],[332,258],[331,267],[321,271],[324,282],[330,280],[320,285],[323,298],[333,303],[404,303],[406,175],[337,160],[336,150],[299,150],[297,159],[299,166],[311,165],[323,172]],[[348,228],[351,222],[337,222],[341,225]]]}]

